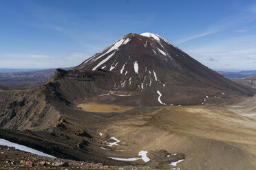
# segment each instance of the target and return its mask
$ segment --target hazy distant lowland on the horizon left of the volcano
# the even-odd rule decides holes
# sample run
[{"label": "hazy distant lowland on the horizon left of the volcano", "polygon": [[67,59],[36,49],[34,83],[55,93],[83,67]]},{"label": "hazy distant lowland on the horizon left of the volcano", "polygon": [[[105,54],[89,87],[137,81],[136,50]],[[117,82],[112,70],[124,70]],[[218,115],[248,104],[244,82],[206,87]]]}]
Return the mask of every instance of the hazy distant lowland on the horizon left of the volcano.
[{"label": "hazy distant lowland on the horizon left of the volcano", "polygon": [[[73,67],[63,68],[70,70]],[[9,73],[1,73],[1,71],[10,71]],[[17,72],[21,71],[21,72]],[[28,88],[36,86],[49,80],[54,76],[56,69],[45,69],[37,71],[25,71],[24,69],[0,69],[0,84],[14,88]]]}]

